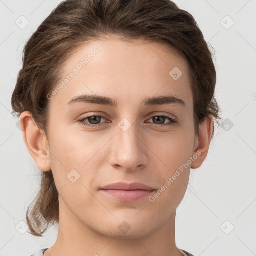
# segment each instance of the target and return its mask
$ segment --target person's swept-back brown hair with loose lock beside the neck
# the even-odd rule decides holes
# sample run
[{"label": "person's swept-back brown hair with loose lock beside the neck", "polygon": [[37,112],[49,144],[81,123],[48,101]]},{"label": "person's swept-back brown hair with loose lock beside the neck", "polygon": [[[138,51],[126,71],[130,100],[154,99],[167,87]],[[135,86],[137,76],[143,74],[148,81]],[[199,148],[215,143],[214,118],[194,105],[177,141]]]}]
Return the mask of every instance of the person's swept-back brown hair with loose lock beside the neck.
[{"label": "person's swept-back brown hair with loose lock beside the neck", "polygon": [[[111,34],[123,39],[167,43],[188,65],[194,100],[194,128],[208,115],[221,119],[214,97],[216,71],[203,34],[193,16],[170,0],[66,0],[41,23],[27,41],[23,66],[12,94],[12,113],[30,111],[46,137],[48,98],[60,69],[78,46]],[[214,127],[213,127],[214,132]],[[30,233],[42,236],[48,224],[59,221],[58,191],[52,171],[42,171],[41,187],[29,205]],[[32,209],[29,211],[30,207]]]}]

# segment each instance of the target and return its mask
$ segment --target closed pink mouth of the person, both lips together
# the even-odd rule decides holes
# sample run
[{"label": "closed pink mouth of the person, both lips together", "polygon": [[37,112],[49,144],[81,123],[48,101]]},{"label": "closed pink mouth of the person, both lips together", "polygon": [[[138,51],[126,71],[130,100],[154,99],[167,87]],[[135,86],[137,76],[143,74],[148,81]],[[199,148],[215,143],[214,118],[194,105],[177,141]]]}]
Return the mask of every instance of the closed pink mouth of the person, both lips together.
[{"label": "closed pink mouth of the person, both lips together", "polygon": [[105,195],[120,201],[137,201],[149,196],[155,189],[143,183],[118,182],[104,186],[100,189]]}]

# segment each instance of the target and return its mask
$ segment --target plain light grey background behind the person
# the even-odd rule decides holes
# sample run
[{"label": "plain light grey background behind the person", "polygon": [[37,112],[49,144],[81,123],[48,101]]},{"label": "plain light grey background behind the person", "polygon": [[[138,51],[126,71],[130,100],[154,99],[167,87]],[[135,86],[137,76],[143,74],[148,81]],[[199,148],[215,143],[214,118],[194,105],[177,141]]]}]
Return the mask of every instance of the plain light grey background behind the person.
[{"label": "plain light grey background behind the person", "polygon": [[[51,227],[36,238],[20,222],[39,179],[18,119],[10,114],[10,99],[24,43],[60,2],[0,0],[0,256],[28,256],[51,246],[57,235]],[[174,2],[194,16],[215,49],[216,97],[224,120],[206,160],[191,170],[177,209],[176,244],[195,256],[256,255],[256,1]],[[15,23],[22,15],[29,21],[25,28]]]}]

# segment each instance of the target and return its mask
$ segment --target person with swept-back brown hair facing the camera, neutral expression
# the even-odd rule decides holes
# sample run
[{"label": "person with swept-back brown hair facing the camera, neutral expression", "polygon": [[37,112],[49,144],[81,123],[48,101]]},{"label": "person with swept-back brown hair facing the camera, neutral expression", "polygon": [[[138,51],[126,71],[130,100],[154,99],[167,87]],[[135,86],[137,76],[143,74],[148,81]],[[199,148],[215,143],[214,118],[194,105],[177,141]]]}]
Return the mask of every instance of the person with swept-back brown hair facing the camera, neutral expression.
[{"label": "person with swept-back brown hair facing the camera, neutral expression", "polygon": [[169,0],[66,0],[24,48],[11,103],[41,171],[35,256],[191,253],[176,209],[207,156],[219,106],[209,45]]}]

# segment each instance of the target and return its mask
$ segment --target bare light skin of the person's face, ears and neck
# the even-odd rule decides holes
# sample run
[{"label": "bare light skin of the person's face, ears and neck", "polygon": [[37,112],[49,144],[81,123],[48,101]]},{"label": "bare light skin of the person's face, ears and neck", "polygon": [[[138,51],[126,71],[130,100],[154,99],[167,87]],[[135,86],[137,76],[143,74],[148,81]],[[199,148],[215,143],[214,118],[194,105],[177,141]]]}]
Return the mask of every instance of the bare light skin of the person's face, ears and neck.
[{"label": "bare light skin of the person's face, ears and neck", "polygon": [[[127,42],[112,36],[86,43],[66,61],[62,78],[94,48],[99,50],[95,57],[49,100],[48,139],[28,111],[20,116],[29,153],[40,170],[52,170],[59,192],[58,236],[44,255],[180,256],[175,244],[176,208],[190,168],[200,167],[207,156],[212,116],[200,124],[196,135],[187,62],[157,42]],[[174,67],[183,73],[178,80],[169,75]],[[119,105],[67,104],[82,93],[115,98]],[[167,94],[186,105],[141,104],[145,97]],[[101,114],[106,118],[84,121],[100,123],[98,127],[77,121]],[[177,122],[160,126],[170,123],[167,118],[158,122],[152,118],[161,114]],[[123,118],[131,125],[126,131],[118,126]],[[141,182],[159,190],[198,151],[200,155],[154,202],[148,196],[119,201],[100,190],[118,181]],[[74,183],[67,178],[72,169],[80,174]],[[123,221],[130,226],[126,233],[118,228]]]}]

